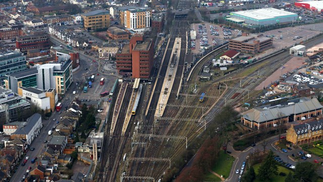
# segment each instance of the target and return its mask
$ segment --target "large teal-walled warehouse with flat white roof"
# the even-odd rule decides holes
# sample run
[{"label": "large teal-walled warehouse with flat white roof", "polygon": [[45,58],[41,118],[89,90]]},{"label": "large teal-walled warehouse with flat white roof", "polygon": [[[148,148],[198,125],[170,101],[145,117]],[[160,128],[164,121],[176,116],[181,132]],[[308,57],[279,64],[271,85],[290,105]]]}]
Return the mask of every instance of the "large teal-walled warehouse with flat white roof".
[{"label": "large teal-walled warehouse with flat white roof", "polygon": [[273,25],[277,23],[287,23],[296,21],[298,15],[288,11],[278,10],[275,8],[264,8],[255,10],[246,10],[231,12],[227,21],[235,23],[246,23],[249,25]]}]

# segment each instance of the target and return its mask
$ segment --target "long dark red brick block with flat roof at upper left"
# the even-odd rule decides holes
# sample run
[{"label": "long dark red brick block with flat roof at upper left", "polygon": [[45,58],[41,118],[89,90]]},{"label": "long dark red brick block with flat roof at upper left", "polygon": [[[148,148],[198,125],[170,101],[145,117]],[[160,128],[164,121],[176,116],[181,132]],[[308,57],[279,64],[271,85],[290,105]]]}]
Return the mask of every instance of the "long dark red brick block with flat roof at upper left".
[{"label": "long dark red brick block with flat roof at upper left", "polygon": [[16,48],[22,53],[27,53],[28,50],[39,49],[40,51],[49,51],[51,46],[49,35],[25,35],[17,37]]}]

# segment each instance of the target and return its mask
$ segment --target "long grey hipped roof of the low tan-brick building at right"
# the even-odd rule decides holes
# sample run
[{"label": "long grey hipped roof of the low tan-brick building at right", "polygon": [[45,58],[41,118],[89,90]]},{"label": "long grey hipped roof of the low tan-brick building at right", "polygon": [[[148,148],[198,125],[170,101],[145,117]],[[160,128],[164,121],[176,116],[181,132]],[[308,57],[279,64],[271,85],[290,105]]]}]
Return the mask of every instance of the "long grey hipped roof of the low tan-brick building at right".
[{"label": "long grey hipped roof of the low tan-brick building at right", "polygon": [[289,103],[275,106],[267,105],[253,108],[242,113],[242,116],[249,121],[261,123],[277,119],[279,114],[281,114],[282,117],[288,117],[292,114],[305,113],[323,108],[316,98],[298,98],[289,100],[288,102]]}]

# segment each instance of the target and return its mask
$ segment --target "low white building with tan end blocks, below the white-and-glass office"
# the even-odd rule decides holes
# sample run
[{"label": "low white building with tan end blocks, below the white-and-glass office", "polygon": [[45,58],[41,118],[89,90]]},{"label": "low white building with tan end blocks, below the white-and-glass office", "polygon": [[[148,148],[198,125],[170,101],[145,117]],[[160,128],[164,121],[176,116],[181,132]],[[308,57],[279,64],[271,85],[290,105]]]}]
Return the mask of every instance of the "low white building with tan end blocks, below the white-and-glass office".
[{"label": "low white building with tan end blocks, below the white-and-glass office", "polygon": [[58,96],[54,88],[41,90],[34,87],[19,87],[18,94],[29,103],[43,110],[44,113],[55,111],[55,104],[58,102]]}]

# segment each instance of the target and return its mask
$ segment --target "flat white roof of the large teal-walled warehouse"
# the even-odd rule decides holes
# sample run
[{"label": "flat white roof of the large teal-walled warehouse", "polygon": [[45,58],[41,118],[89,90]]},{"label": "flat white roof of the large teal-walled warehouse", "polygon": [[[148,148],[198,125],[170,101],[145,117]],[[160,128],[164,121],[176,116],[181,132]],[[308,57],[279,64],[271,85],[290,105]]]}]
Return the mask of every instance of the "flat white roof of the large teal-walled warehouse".
[{"label": "flat white roof of the large teal-walled warehouse", "polygon": [[265,20],[271,18],[278,18],[281,16],[288,16],[288,15],[295,15],[295,13],[291,13],[288,11],[278,10],[275,8],[263,8],[263,9],[256,9],[256,10],[246,10],[246,11],[239,11],[239,12],[232,12],[236,15],[241,15],[249,18],[253,18],[256,20]]}]

